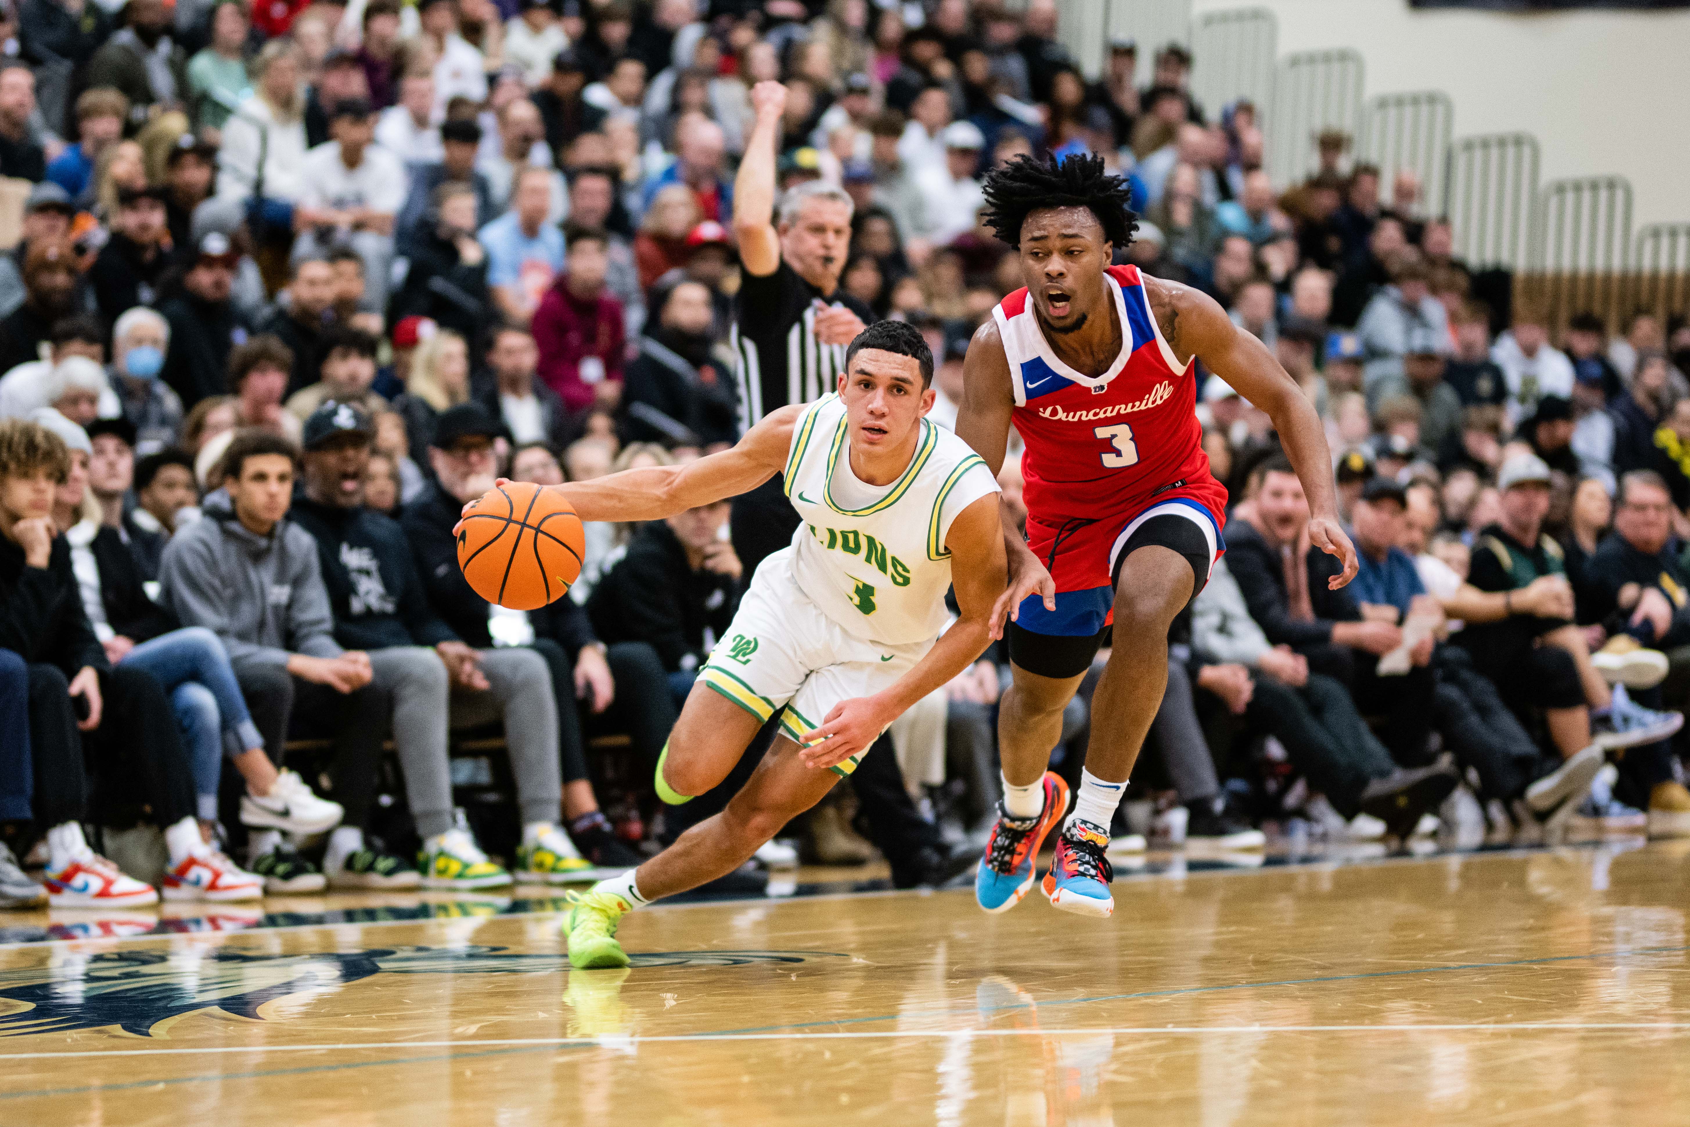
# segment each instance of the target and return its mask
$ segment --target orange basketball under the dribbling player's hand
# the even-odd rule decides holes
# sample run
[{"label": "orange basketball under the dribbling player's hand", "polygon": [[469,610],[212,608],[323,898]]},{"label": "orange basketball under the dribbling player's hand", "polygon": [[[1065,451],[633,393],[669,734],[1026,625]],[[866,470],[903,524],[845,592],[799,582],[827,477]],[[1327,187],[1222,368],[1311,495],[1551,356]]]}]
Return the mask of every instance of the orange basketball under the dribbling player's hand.
[{"label": "orange basketball under the dribbling player's hand", "polygon": [[570,502],[527,482],[487,493],[458,525],[458,566],[475,593],[510,610],[563,598],[586,534]]}]

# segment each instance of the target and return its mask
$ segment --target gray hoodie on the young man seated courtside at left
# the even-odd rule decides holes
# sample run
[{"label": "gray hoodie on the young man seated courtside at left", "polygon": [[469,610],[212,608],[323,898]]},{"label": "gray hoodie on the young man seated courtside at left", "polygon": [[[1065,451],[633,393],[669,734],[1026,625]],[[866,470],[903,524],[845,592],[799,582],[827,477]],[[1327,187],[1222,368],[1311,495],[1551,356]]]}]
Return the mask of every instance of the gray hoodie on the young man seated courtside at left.
[{"label": "gray hoodie on the young man seated courtside at left", "polygon": [[230,661],[286,666],[291,654],[338,657],[335,617],[316,541],[286,517],[269,536],[235,519],[228,493],[206,497],[204,519],[164,549],[164,603],[184,627],[206,627]]}]

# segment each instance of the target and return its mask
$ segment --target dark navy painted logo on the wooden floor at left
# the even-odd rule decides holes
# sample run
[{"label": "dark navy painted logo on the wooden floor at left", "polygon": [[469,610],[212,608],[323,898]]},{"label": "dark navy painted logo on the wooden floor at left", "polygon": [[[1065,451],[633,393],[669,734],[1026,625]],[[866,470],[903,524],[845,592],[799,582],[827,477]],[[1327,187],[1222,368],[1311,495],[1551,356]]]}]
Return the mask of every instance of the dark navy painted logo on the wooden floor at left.
[{"label": "dark navy painted logo on the wooden floor at left", "polygon": [[[647,951],[634,966],[742,966],[848,958],[833,951]],[[570,970],[564,955],[502,946],[390,946],[314,955],[213,951],[56,953],[49,966],[0,970],[0,1037],[115,1026],[150,1037],[162,1022],[201,1010],[264,1021],[277,999],[328,994],[373,975],[534,975]],[[598,973],[598,972],[595,972]],[[272,1014],[274,1017],[274,1014]],[[167,1026],[166,1026],[167,1027]]]}]

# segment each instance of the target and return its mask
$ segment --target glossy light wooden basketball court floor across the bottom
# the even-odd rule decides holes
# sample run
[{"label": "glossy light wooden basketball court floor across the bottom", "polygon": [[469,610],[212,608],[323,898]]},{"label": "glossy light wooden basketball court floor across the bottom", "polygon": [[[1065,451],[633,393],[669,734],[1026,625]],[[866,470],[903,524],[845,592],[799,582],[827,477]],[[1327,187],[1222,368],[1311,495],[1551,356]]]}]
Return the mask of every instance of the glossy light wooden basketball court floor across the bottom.
[{"label": "glossy light wooden basketball court floor across the bottom", "polygon": [[1690,1124],[1690,841],[1176,872],[659,906],[583,973],[554,899],[8,914],[95,938],[0,946],[0,1124]]}]

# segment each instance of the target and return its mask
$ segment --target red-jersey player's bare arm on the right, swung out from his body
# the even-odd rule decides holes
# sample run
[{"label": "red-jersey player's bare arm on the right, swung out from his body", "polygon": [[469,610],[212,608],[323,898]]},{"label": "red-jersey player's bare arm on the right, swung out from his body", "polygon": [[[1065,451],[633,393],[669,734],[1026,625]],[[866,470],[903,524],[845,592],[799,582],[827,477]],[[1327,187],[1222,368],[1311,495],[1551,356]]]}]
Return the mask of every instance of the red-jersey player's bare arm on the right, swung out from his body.
[{"label": "red-jersey player's bare arm on the right, swung out from his body", "polygon": [[1360,564],[1355,559],[1355,546],[1338,524],[1332,451],[1327,448],[1327,431],[1320,426],[1313,404],[1273,353],[1235,326],[1213,297],[1171,282],[1163,282],[1159,289],[1164,294],[1166,313],[1163,309],[1156,313],[1164,329],[1169,321],[1173,324],[1173,333],[1164,331],[1164,335],[1175,351],[1202,360],[1203,367],[1273,419],[1279,443],[1308,497],[1308,539],[1344,564],[1344,571],[1328,580],[1328,586],[1338,590],[1355,578]]}]

